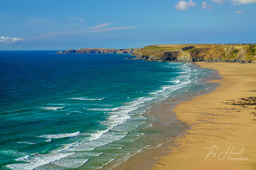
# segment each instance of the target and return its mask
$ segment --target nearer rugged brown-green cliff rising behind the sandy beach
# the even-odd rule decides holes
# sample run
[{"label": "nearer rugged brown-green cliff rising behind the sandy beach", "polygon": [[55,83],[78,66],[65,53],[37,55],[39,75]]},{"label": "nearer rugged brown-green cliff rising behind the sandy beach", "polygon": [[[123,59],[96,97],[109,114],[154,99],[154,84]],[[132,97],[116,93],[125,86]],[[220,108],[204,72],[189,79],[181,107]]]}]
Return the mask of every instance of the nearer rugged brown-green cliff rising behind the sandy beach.
[{"label": "nearer rugged brown-green cliff rising behind the sandy beach", "polygon": [[[171,45],[146,46],[133,52],[134,59],[177,62],[256,63],[256,45],[195,45],[173,48]],[[174,45],[173,45],[174,46]]]}]

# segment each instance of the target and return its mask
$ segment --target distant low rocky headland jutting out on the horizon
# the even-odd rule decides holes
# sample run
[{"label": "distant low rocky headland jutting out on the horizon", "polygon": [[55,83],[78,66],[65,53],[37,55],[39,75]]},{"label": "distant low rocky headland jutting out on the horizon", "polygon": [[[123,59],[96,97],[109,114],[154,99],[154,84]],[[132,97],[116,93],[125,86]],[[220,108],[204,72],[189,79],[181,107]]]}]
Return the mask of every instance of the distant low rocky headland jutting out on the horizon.
[{"label": "distant low rocky headland jutting out on the horizon", "polygon": [[74,54],[74,53],[118,53],[118,54],[132,54],[139,48],[133,49],[104,49],[104,48],[83,48],[83,49],[69,49],[65,51],[57,51],[57,54]]}]

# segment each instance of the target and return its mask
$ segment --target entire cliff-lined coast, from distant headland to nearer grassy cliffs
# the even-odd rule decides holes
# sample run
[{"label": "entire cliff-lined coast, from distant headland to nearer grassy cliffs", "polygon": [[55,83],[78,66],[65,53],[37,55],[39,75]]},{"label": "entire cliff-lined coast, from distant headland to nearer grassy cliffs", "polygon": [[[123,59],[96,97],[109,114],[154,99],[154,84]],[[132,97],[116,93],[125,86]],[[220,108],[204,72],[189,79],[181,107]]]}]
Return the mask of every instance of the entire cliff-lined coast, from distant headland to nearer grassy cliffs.
[{"label": "entire cliff-lined coast, from distant headland to nearer grassy cliffs", "polygon": [[123,53],[133,59],[176,62],[256,62],[256,44],[176,44],[151,45],[134,49],[83,48],[57,51],[66,53]]}]

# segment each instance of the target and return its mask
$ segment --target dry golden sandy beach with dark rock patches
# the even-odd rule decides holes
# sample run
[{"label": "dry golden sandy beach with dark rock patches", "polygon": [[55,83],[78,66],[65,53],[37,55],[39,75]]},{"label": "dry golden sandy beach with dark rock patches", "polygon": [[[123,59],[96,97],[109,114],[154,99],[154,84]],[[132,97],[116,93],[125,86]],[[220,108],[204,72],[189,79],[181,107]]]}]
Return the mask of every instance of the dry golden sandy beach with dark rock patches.
[{"label": "dry golden sandy beach with dark rock patches", "polygon": [[256,65],[197,64],[217,70],[220,87],[174,107],[191,129],[150,169],[255,169]]}]

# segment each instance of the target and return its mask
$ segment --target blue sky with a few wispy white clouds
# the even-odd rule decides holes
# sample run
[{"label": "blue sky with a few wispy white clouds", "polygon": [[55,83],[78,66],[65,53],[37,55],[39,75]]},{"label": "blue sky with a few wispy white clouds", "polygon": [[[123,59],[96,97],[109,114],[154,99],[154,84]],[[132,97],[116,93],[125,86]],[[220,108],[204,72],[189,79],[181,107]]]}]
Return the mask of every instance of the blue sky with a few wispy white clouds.
[{"label": "blue sky with a few wispy white clouds", "polygon": [[256,42],[256,0],[0,0],[0,4],[0,50]]}]

